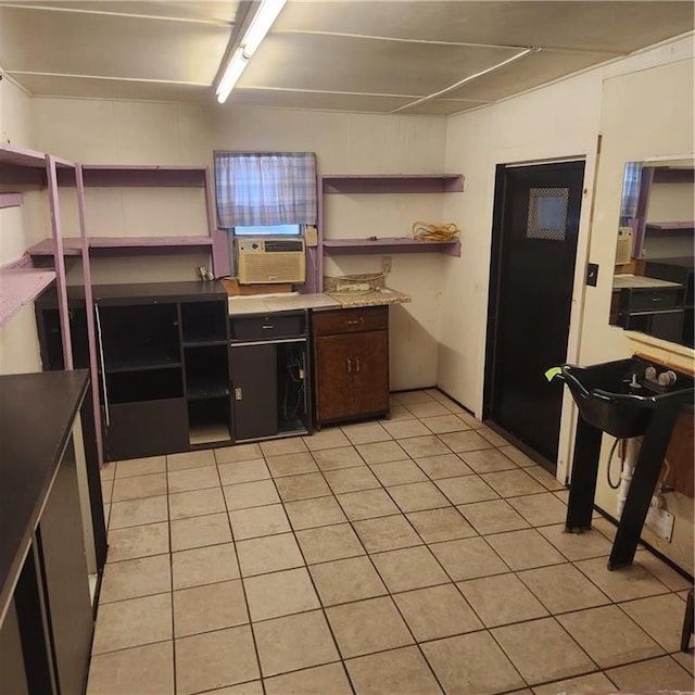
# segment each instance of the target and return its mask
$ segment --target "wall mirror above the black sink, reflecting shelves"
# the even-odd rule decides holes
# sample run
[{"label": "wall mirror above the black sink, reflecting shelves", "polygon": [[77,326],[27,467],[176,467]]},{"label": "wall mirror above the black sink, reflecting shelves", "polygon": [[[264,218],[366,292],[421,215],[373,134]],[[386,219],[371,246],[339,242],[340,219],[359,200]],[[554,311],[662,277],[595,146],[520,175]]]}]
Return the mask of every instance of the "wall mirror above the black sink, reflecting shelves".
[{"label": "wall mirror above the black sink, reflecting shelves", "polygon": [[628,162],[610,324],[693,348],[695,160]]}]

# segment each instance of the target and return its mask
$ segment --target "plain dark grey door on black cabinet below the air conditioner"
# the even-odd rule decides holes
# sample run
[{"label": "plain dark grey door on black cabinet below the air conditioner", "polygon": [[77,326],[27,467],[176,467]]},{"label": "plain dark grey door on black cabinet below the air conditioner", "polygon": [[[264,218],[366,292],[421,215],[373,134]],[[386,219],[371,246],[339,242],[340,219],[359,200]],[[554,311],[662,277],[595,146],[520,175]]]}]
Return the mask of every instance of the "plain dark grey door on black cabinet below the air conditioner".
[{"label": "plain dark grey door on black cabinet below the air conditioner", "polygon": [[258,439],[277,434],[275,345],[233,345],[230,350],[235,439]]}]

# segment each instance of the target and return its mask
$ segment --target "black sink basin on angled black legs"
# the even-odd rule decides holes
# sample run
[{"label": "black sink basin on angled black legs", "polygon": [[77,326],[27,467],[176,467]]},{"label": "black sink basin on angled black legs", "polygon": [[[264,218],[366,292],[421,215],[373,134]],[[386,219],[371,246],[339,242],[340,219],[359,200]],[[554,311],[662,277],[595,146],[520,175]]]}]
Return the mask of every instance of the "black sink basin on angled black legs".
[{"label": "black sink basin on angled black legs", "polygon": [[[568,386],[583,420],[626,439],[643,435],[660,405],[693,402],[693,377],[671,370],[675,381],[660,386],[657,378],[648,377],[652,366],[635,355],[589,367],[563,365],[558,377]],[[656,371],[661,374],[667,368],[657,366]]]}]

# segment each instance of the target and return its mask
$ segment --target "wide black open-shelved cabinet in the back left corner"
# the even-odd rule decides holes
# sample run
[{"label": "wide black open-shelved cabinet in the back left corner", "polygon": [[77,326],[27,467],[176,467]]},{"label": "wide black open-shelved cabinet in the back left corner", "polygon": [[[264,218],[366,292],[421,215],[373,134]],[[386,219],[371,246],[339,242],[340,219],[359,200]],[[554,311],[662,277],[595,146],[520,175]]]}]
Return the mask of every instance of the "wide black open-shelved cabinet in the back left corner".
[{"label": "wide black open-shelved cabinet in the back left corner", "polygon": [[[104,459],[231,443],[227,293],[218,282],[92,288]],[[84,293],[68,292],[85,355]],[[55,294],[36,303],[45,369],[62,368]],[[79,364],[79,363],[78,363]],[[81,365],[80,365],[81,366]]]}]

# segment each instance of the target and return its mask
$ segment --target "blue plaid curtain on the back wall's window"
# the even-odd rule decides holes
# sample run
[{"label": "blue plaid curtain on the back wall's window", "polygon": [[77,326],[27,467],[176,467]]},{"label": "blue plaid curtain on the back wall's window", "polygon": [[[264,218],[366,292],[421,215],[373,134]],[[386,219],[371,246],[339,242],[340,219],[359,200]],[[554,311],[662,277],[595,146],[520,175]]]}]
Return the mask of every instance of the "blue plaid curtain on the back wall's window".
[{"label": "blue plaid curtain on the back wall's window", "polygon": [[217,218],[236,225],[315,225],[313,152],[215,152]]}]

